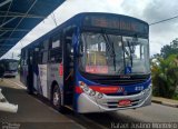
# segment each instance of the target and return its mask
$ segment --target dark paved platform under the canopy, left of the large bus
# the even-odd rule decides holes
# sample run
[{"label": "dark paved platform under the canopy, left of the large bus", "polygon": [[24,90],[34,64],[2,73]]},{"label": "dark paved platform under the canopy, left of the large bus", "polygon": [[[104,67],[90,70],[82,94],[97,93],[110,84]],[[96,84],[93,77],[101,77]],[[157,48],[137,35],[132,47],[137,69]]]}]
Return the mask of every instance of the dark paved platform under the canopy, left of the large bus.
[{"label": "dark paved platform under the canopy, left of the large bus", "polygon": [[3,83],[0,82],[0,86],[8,101],[19,105],[17,113],[0,111],[0,121],[2,122],[0,129],[8,123],[11,126],[20,125],[20,129],[59,129],[59,127],[61,129],[85,129],[72,119],[58,113],[49,106],[29,96],[24,89],[17,85],[17,80],[4,80]]}]

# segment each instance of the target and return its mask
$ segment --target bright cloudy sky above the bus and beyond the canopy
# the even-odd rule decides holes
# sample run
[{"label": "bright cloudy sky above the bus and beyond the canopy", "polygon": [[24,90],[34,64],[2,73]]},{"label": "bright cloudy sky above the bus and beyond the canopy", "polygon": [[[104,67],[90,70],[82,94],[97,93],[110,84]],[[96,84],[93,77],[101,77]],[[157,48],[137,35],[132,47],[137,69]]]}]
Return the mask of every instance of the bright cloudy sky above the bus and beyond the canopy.
[{"label": "bright cloudy sky above the bus and beyond the canopy", "polygon": [[[152,23],[178,16],[177,7],[177,0],[66,0],[53,14],[48,16],[1,58],[12,58],[13,53],[13,58],[18,59],[21,48],[56,28],[53,16],[58,26],[79,12],[111,12]],[[178,38],[178,18],[150,26],[150,56],[159,53],[162,46],[169,44],[176,38]]]}]

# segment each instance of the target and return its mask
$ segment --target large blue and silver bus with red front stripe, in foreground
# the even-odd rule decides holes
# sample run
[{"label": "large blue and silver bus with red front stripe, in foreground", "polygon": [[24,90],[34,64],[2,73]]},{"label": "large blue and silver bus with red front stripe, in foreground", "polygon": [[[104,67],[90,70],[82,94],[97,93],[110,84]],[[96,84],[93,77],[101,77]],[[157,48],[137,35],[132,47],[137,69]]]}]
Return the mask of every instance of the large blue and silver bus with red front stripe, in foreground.
[{"label": "large blue and silver bus with red front stripe, in foreground", "polygon": [[59,111],[103,112],[151,103],[149,26],[82,12],[21,50],[21,82]]}]

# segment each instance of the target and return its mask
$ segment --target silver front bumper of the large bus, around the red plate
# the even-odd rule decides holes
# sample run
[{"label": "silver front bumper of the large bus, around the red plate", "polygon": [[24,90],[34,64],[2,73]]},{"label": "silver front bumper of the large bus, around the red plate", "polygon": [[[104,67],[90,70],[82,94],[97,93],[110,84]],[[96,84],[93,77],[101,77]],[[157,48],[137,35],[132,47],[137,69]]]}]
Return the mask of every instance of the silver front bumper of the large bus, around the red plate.
[{"label": "silver front bumper of the large bus, around the red plate", "polygon": [[[119,100],[130,100],[130,105],[119,106]],[[136,109],[151,105],[151,87],[131,96],[106,96],[101,99],[90,97],[82,92],[78,98],[78,112],[105,112],[123,109]]]}]

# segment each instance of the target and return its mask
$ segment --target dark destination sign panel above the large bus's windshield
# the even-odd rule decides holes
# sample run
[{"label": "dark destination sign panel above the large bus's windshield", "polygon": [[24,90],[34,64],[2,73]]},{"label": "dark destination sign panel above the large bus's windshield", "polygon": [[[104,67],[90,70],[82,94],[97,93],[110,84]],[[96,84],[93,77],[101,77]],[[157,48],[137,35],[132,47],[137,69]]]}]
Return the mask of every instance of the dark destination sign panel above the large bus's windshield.
[{"label": "dark destination sign panel above the large bus's windshield", "polygon": [[83,26],[148,33],[148,24],[146,22],[135,18],[117,14],[87,16],[85,18]]}]

